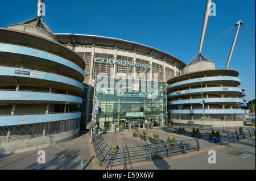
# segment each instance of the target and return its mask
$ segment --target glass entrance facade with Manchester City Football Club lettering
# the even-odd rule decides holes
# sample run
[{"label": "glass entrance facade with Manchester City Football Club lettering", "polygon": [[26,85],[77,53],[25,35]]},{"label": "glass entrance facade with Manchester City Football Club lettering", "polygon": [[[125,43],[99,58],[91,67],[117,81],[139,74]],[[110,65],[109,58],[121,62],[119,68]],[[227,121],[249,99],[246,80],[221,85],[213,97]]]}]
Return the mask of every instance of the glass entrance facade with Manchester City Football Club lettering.
[{"label": "glass entrance facade with Manchester City Football Club lettering", "polygon": [[[96,99],[99,105],[95,119],[100,131],[118,130],[121,123],[123,129],[144,128],[150,121],[155,127],[166,125],[166,83],[122,80],[125,81],[117,91],[115,86],[120,79],[98,78]],[[154,87],[154,94],[148,93],[149,85]]]}]

